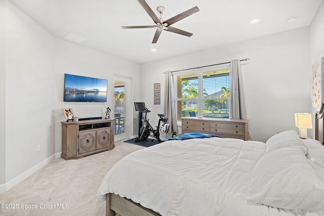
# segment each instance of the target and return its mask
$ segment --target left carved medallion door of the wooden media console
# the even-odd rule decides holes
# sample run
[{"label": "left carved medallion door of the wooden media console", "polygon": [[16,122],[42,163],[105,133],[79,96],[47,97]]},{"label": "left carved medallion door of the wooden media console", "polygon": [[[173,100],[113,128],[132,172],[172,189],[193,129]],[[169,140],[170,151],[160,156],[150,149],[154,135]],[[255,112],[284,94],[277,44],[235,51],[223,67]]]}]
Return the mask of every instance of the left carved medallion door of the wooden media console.
[{"label": "left carved medallion door of the wooden media console", "polygon": [[79,132],[79,154],[96,150],[96,131]]}]

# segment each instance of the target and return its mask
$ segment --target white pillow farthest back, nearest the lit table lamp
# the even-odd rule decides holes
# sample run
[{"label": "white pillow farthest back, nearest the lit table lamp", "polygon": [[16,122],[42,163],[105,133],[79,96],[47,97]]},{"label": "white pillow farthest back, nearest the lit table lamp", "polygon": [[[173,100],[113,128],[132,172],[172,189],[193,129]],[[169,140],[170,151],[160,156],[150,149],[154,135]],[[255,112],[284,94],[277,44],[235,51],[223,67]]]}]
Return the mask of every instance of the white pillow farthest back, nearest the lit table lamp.
[{"label": "white pillow farthest back, nearest the lit table lamp", "polygon": [[290,146],[294,146],[302,150],[305,155],[307,154],[305,144],[295,131],[285,131],[270,137],[266,142],[267,148],[265,150],[265,154],[279,148],[286,148]]}]

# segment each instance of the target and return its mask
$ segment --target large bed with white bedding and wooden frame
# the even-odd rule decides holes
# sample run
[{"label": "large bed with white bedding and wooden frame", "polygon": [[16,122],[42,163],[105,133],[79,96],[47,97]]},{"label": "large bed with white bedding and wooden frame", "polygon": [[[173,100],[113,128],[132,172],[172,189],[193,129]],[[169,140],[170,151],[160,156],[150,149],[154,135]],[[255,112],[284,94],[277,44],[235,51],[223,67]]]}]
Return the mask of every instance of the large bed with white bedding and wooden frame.
[{"label": "large bed with white bedding and wooden frame", "polygon": [[[321,109],[316,138],[323,138]],[[321,129],[318,129],[321,128]],[[324,215],[324,146],[295,131],[266,143],[171,140],[127,155],[103,179],[106,215]]]}]

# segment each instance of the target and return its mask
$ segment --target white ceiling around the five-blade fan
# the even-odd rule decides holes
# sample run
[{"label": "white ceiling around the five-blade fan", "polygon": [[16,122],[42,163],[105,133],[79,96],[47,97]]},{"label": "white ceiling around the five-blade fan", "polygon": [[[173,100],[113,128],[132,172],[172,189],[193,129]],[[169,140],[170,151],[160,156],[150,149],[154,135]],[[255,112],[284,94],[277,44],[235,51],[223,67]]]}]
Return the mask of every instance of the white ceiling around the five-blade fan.
[{"label": "white ceiling around the five-blade fan", "polygon": [[[321,0],[146,0],[167,20],[194,6],[199,12],[172,26],[191,37],[163,31],[151,44],[155,29],[120,26],[154,25],[137,0],[10,0],[57,38],[67,33],[87,38],[82,46],[137,63],[231,44],[267,34],[309,26]],[[296,17],[296,21],[287,20]],[[250,24],[253,19],[257,24]],[[156,52],[151,52],[155,48]]]}]

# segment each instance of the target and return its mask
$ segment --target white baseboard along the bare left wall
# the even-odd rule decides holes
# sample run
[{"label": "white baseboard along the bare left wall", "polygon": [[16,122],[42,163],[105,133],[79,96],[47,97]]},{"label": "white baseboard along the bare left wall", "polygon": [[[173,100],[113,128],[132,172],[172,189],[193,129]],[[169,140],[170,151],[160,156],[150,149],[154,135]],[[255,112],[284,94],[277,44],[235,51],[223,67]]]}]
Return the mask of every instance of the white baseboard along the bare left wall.
[{"label": "white baseboard along the bare left wall", "polygon": [[19,184],[20,182],[22,182],[24,179],[26,179],[27,177],[31,176],[32,174],[34,174],[34,172],[36,172],[38,169],[42,168],[43,166],[49,164],[52,160],[54,160],[55,158],[59,158],[61,157],[61,153],[56,153],[53,154],[52,156],[46,158],[45,160],[43,160],[42,162],[34,165],[33,167],[31,167],[30,169],[24,171],[22,174],[20,174],[19,176],[17,176],[16,178],[10,180],[9,182],[7,182],[4,185],[0,185],[0,193],[6,192],[7,190],[9,190],[10,188],[16,186],[17,184]]}]

